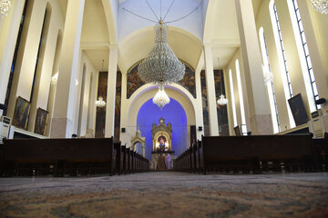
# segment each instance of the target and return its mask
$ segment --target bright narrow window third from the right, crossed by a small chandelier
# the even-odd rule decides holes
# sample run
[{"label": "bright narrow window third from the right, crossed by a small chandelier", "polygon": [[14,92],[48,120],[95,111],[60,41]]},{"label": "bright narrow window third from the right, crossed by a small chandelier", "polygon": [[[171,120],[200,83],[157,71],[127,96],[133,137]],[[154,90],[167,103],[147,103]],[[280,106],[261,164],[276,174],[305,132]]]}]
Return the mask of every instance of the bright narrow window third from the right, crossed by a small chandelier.
[{"label": "bright narrow window third from the right, crossed by a small chandelier", "polygon": [[[266,41],[265,41],[263,27],[260,28],[259,36],[260,36],[261,54],[262,54],[262,60],[263,60],[263,70],[265,72],[268,72],[269,74],[272,74],[271,67],[270,67],[269,53],[268,53],[268,48],[267,48]],[[275,97],[275,93],[274,93],[273,81],[272,80],[268,81],[266,86],[268,89],[270,109],[271,109],[271,113],[272,113],[273,133],[276,134],[276,133],[279,133],[281,129],[280,129],[277,101],[276,101],[276,97]]]}]

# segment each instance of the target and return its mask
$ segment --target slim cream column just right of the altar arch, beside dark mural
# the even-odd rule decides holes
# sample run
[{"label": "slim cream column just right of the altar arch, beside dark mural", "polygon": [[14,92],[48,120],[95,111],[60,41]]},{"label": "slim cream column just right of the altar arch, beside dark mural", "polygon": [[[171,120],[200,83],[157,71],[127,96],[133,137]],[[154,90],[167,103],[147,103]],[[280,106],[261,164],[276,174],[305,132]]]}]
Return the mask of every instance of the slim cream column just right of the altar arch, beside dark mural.
[{"label": "slim cream column just right of the altar arch, beside dark mural", "polygon": [[218,112],[215,97],[213,58],[211,45],[204,45],[205,54],[205,77],[206,89],[209,103],[209,119],[210,119],[210,136],[219,135]]}]

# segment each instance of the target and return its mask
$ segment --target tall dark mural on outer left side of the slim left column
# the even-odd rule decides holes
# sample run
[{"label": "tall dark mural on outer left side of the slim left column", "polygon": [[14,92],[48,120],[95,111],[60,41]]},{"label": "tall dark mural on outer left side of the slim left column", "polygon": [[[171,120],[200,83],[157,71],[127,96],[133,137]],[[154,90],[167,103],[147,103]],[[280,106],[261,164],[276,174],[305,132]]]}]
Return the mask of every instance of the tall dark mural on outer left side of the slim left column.
[{"label": "tall dark mural on outer left side of the slim left column", "polygon": [[[99,72],[97,99],[98,97],[103,97],[103,99],[105,99],[106,101],[107,86],[108,86],[108,72]],[[96,138],[105,137],[105,122],[106,122],[106,106],[97,107],[96,131],[95,131]]]}]

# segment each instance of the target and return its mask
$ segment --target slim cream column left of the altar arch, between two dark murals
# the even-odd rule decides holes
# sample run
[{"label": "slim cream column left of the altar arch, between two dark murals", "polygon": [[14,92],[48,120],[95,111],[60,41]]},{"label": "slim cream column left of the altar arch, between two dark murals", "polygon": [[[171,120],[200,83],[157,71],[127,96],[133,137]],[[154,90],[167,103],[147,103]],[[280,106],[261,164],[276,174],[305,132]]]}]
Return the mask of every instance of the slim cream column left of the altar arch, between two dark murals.
[{"label": "slim cream column left of the altar arch, between two dark murals", "polygon": [[115,128],[115,99],[116,99],[116,82],[118,74],[118,46],[109,47],[108,61],[108,94],[106,102],[106,124],[105,137],[114,136]]}]

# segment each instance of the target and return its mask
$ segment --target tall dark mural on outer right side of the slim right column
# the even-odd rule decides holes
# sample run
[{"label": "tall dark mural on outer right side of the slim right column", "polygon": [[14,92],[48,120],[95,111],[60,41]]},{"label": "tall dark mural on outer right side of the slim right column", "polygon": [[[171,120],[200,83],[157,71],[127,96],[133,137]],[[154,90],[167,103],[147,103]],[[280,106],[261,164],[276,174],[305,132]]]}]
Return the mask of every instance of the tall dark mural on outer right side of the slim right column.
[{"label": "tall dark mural on outer right side of the slim right column", "polygon": [[[219,99],[220,94],[224,94],[224,96],[227,96],[225,94],[224,77],[222,70],[214,70],[214,83],[216,99]],[[220,135],[229,135],[227,105],[218,104],[217,113]]]}]

